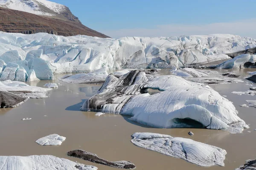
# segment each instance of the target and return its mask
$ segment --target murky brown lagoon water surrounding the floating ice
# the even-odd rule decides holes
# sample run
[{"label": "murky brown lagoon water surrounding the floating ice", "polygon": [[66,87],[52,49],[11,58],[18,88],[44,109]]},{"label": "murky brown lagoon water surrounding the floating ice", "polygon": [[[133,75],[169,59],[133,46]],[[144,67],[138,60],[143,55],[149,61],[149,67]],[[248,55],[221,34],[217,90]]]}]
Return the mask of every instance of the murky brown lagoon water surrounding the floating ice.
[{"label": "murky brown lagoon water surrounding the floating ice", "polygon": [[[246,71],[256,70],[238,71],[237,74],[246,76]],[[58,84],[59,81],[30,84],[43,87],[47,82]],[[250,129],[243,133],[230,134],[224,130],[151,128],[130,121],[128,116],[105,114],[98,117],[94,116],[94,112],[81,112],[79,108],[84,99],[96,94],[101,85],[77,85],[60,81],[58,89],[52,90],[48,98],[29,99],[17,108],[0,109],[0,155],[53,155],[94,165],[99,170],[116,169],[66,155],[70,150],[81,149],[109,161],[131,161],[137,170],[234,170],[244,164],[245,160],[256,159],[256,108],[239,106],[247,104],[245,100],[256,100],[256,96],[231,93],[249,90],[251,86],[246,85],[246,82],[249,81],[244,79],[241,83],[210,85],[219,94],[226,95],[239,111],[239,117],[250,124]],[[253,85],[256,86],[255,83]],[[26,117],[32,120],[21,120]],[[195,133],[194,136],[187,134],[190,130]],[[168,134],[221,147],[227,151],[225,166],[199,167],[183,159],[137,147],[130,142],[135,132]],[[37,139],[53,133],[67,137],[61,146],[41,146],[35,143]]]}]

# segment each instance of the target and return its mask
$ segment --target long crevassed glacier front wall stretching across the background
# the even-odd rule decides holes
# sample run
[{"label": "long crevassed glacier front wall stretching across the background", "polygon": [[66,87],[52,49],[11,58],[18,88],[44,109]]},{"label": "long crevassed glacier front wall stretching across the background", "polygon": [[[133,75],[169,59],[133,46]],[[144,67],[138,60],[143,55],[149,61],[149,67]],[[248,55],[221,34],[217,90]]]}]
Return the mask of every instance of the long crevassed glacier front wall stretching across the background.
[{"label": "long crevassed glacier front wall stretching across the background", "polygon": [[112,39],[0,32],[0,74],[31,81],[32,70],[34,79],[51,80],[101,68],[182,68],[229,59],[226,54],[251,46],[256,40],[230,34]]}]

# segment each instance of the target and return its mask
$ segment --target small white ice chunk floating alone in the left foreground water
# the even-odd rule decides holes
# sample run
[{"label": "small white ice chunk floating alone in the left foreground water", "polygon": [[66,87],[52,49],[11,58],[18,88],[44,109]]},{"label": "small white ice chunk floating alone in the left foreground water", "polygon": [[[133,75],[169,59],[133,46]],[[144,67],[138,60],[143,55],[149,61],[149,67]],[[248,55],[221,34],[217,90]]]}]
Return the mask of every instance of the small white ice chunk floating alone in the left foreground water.
[{"label": "small white ice chunk floating alone in the left foreground water", "polygon": [[42,137],[42,138],[36,140],[35,142],[40,145],[44,145],[44,146],[56,146],[56,145],[61,145],[65,139],[66,139],[66,137],[64,137],[64,136],[52,134],[52,135]]}]

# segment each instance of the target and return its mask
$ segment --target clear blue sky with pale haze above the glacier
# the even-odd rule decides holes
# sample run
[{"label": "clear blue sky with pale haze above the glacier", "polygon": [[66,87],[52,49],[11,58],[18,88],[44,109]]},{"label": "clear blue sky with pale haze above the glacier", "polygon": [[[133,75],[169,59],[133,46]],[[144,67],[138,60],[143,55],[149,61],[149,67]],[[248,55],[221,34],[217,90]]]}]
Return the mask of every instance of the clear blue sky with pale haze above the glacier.
[{"label": "clear blue sky with pale haze above the glacier", "polygon": [[256,0],[51,0],[111,37],[239,34],[256,38]]}]

